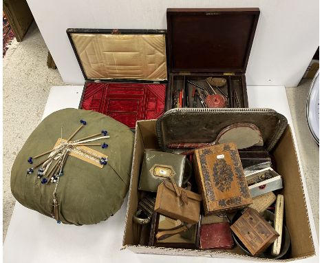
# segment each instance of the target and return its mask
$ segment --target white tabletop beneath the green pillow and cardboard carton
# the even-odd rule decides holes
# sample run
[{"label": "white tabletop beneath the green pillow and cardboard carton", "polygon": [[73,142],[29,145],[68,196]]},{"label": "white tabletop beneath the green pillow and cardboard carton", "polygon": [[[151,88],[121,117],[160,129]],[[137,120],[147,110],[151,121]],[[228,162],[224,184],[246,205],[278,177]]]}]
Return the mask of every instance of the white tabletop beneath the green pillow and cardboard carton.
[{"label": "white tabletop beneath the green pillow and cardboard carton", "polygon": [[[288,118],[292,127],[292,118],[288,107],[286,91],[283,86],[250,86],[248,89],[249,107],[269,107]],[[52,87],[45,106],[43,118],[58,109],[78,108],[83,86]],[[295,142],[296,142],[296,138]],[[298,149],[297,149],[298,151]],[[297,155],[299,156],[299,154]],[[300,162],[301,167],[301,162]],[[310,201],[301,169],[305,198],[308,203],[312,235],[319,255]],[[212,259],[207,257],[182,257],[173,255],[136,254],[122,248],[122,236],[125,225],[127,198],[120,211],[105,222],[76,227],[57,224],[36,211],[23,207],[16,202],[6,240],[3,244],[3,262],[246,262],[240,259]],[[309,257],[297,262],[319,262],[319,257]]]}]

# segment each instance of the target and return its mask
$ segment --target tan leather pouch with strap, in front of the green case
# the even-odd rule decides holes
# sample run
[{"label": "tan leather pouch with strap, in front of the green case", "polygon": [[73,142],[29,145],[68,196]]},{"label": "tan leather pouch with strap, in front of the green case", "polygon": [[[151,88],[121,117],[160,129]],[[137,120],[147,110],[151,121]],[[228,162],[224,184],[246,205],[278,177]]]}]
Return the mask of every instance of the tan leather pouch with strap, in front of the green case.
[{"label": "tan leather pouch with strap, in front of the green case", "polygon": [[200,194],[193,193],[164,180],[158,187],[154,211],[188,224],[200,219]]}]

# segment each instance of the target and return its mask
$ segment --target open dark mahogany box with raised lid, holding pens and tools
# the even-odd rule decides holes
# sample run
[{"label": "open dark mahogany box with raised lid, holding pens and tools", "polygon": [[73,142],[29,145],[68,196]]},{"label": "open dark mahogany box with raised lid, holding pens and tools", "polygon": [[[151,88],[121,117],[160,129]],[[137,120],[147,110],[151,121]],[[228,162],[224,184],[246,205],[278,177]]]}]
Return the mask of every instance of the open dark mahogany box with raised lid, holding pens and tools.
[{"label": "open dark mahogany box with raised lid, holding pens and tools", "polygon": [[[258,8],[168,9],[167,109],[176,107],[173,97],[186,81],[208,88],[208,77],[226,79],[219,89],[227,107],[248,107],[245,72],[258,18]],[[193,85],[186,85],[191,107]],[[199,100],[196,107],[202,107]]]}]

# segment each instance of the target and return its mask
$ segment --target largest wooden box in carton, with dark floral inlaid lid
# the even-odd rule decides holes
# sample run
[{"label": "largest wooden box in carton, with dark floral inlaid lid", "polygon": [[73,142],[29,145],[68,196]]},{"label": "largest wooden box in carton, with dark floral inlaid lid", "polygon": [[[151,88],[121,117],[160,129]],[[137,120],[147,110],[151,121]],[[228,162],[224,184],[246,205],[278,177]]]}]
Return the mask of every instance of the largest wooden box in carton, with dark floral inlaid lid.
[{"label": "largest wooden box in carton, with dark floral inlaid lid", "polygon": [[252,203],[235,143],[197,149],[193,162],[205,214]]}]

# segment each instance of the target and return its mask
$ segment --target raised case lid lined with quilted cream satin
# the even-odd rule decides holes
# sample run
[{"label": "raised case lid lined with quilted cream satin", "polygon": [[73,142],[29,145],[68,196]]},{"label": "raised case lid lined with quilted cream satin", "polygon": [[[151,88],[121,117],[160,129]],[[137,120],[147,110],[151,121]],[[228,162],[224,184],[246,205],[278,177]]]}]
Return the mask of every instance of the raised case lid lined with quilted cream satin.
[{"label": "raised case lid lined with quilted cream satin", "polygon": [[167,81],[165,30],[68,28],[86,81]]}]

